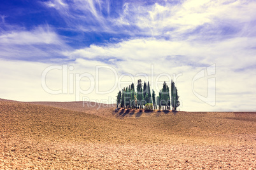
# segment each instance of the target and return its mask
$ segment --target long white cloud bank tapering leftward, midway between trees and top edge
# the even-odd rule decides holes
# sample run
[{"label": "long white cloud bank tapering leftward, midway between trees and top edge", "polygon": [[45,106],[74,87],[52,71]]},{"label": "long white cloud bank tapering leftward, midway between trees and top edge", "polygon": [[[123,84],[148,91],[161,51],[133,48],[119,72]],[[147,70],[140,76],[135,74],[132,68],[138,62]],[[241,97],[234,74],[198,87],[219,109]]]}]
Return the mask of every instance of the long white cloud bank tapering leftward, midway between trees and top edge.
[{"label": "long white cloud bank tapering leftward, midway between trees and top edge", "polygon": [[[235,70],[250,65],[250,62],[256,62],[255,49],[253,49],[255,41],[254,38],[236,37],[205,44],[201,41],[166,41],[165,39],[143,38],[104,46],[91,45],[88,48],[67,51],[64,55],[90,60],[118,58],[125,62],[146,60],[152,63],[163,58],[166,63],[170,62],[171,67],[180,65],[197,67],[198,65],[219,63],[219,66]],[[241,58],[242,55],[243,58]]]}]

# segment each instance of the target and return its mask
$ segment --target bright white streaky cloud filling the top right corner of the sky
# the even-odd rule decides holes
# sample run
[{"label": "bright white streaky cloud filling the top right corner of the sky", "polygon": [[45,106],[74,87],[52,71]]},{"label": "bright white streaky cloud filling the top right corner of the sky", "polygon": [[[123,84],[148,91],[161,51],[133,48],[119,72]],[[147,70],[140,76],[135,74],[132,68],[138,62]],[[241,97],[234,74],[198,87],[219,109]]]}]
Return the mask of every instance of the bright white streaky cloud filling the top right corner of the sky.
[{"label": "bright white streaky cloud filling the top right corner of the sky", "polygon": [[255,16],[252,10],[255,5],[241,1],[225,4],[220,1],[185,1],[176,5],[155,3],[152,6],[126,3],[117,24],[136,25],[141,34],[148,36],[169,39],[194,39],[199,36],[207,39],[213,34],[223,36],[222,32],[227,27],[243,29],[245,25],[242,23],[252,21]]}]

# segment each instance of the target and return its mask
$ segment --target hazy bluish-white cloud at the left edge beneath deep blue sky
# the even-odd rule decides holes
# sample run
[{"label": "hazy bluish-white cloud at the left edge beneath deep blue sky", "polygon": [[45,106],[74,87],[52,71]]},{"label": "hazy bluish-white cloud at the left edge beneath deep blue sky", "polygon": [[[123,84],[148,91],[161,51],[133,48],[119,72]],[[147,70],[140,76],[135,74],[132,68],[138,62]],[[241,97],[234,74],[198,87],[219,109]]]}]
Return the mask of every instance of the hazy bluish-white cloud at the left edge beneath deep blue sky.
[{"label": "hazy bluish-white cloud at the left edge beneath deep blue sky", "polygon": [[0,49],[0,58],[43,61],[63,57],[63,51],[71,48],[48,25],[45,25],[33,30],[2,32]]}]

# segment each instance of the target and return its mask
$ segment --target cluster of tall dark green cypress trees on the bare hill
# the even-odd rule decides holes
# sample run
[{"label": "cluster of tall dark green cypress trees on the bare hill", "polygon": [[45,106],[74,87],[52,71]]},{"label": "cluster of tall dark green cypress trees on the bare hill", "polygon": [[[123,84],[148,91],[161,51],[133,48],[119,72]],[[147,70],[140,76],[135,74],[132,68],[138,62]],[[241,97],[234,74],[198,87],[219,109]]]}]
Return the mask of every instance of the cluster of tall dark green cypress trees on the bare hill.
[{"label": "cluster of tall dark green cypress trees on the bare hill", "polygon": [[162,89],[159,91],[159,96],[155,100],[155,91],[152,90],[152,96],[150,91],[149,82],[142,85],[141,79],[138,80],[137,91],[134,89],[134,83],[117,93],[117,108],[143,108],[149,104],[153,105],[153,109],[157,108],[159,105],[159,110],[164,108],[169,110],[171,106],[173,111],[176,111],[176,108],[179,107],[180,101],[178,100],[179,96],[177,93],[177,88],[173,81],[171,81],[171,98],[169,93],[169,87],[166,82],[164,82]]}]

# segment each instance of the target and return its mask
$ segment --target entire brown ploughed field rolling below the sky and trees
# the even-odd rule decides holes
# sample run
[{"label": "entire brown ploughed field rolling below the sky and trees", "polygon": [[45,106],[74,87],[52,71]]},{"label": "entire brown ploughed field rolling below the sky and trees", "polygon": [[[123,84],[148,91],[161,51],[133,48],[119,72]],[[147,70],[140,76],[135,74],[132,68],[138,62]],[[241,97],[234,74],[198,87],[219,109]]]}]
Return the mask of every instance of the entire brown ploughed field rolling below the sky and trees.
[{"label": "entire brown ploughed field rolling below the sky and trees", "polygon": [[255,112],[97,108],[0,100],[0,169],[256,169]]}]

